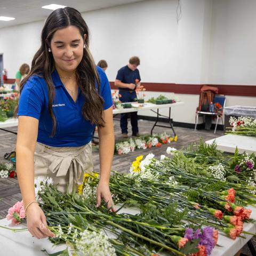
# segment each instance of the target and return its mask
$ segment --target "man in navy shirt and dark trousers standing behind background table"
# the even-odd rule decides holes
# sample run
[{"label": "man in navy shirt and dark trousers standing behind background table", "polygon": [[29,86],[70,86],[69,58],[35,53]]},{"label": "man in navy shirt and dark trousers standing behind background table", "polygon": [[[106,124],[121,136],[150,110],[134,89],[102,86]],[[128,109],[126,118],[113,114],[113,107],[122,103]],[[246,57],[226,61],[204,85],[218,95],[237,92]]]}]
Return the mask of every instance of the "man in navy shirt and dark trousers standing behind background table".
[{"label": "man in navy shirt and dark trousers standing behind background table", "polygon": [[[129,64],[122,67],[118,70],[115,86],[119,89],[119,94],[121,94],[121,102],[133,102],[135,101],[136,89],[140,88],[140,72],[138,70],[138,66],[140,65],[140,59],[137,56],[133,56],[129,60]],[[136,83],[136,79],[139,82]],[[128,137],[128,129],[127,129],[127,118],[131,115],[131,125],[132,125],[132,135],[138,136],[139,135],[139,128],[138,128],[138,116],[137,112],[132,113],[125,113],[121,114],[120,118],[120,126],[122,130],[122,137]]]}]

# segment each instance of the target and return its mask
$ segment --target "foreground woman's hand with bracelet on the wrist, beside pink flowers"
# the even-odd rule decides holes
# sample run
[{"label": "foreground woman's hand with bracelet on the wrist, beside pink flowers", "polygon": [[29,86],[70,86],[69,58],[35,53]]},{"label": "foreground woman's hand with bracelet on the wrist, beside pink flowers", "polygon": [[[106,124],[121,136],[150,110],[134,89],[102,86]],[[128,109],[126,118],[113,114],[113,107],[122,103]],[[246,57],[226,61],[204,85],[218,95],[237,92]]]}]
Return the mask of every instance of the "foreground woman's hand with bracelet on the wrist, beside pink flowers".
[{"label": "foreground woman's hand with bracelet on the wrist, beside pink flowers", "polygon": [[52,231],[47,227],[44,212],[38,204],[29,205],[27,212],[27,226],[28,231],[34,237],[40,239],[45,237],[55,237]]}]

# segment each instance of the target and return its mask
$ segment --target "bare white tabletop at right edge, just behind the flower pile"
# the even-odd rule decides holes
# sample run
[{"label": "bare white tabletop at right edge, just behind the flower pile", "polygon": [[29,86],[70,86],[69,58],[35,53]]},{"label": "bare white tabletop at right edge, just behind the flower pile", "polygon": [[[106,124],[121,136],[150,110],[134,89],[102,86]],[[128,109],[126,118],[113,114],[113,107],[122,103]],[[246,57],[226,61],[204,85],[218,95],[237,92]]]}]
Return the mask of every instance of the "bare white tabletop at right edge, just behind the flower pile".
[{"label": "bare white tabletop at right edge, just behind the flower pile", "polygon": [[210,145],[213,141],[217,144],[217,149],[228,153],[235,153],[236,147],[240,154],[244,151],[248,154],[256,153],[256,137],[227,134],[216,139],[207,140],[205,143]]}]

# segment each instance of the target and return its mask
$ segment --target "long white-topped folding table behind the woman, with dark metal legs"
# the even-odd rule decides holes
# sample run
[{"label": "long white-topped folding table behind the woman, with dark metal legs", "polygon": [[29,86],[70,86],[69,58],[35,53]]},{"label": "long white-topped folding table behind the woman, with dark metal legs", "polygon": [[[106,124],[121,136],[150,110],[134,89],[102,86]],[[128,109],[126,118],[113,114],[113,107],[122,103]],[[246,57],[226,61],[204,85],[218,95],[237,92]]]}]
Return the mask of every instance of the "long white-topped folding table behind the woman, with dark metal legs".
[{"label": "long white-topped folding table behind the woman, with dark metal legs", "polygon": [[[175,102],[175,103],[169,103],[169,104],[163,104],[163,105],[156,105],[154,103],[149,103],[149,102],[146,102],[146,103],[131,102],[131,103],[132,103],[131,108],[113,109],[113,115],[122,114],[122,113],[137,112],[137,111],[140,111],[140,110],[151,110],[151,111],[154,111],[154,113],[157,114],[156,122],[153,125],[153,128],[151,129],[151,134],[153,133],[154,127],[160,126],[160,127],[171,128],[174,135],[175,135],[173,125],[172,125],[172,119],[171,119],[171,108],[181,106],[181,105],[184,104],[184,102]],[[159,122],[158,117],[163,116],[163,115],[159,114],[159,109],[164,109],[164,108],[169,108],[169,116],[164,116],[164,117],[168,118],[167,121],[169,122],[170,126],[163,126],[163,125],[158,125],[157,124]],[[8,127],[13,127],[13,126],[18,126],[18,119],[11,118],[11,119],[7,119],[5,122],[0,122],[0,130],[17,134],[15,132],[12,132],[12,131],[9,131],[9,130],[5,129],[5,128],[8,128]]]}]

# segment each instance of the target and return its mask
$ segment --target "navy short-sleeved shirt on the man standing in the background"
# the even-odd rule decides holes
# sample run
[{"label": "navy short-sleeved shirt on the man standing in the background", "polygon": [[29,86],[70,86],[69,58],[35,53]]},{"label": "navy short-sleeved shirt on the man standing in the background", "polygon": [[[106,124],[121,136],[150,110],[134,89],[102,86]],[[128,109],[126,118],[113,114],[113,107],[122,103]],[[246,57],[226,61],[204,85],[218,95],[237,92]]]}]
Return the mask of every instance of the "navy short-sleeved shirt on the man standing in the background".
[{"label": "navy short-sleeved shirt on the man standing in the background", "polygon": [[[139,69],[131,70],[128,65],[126,65],[117,71],[116,79],[125,84],[135,84],[135,79],[141,80]],[[129,88],[119,88],[119,90],[131,91]]]}]

